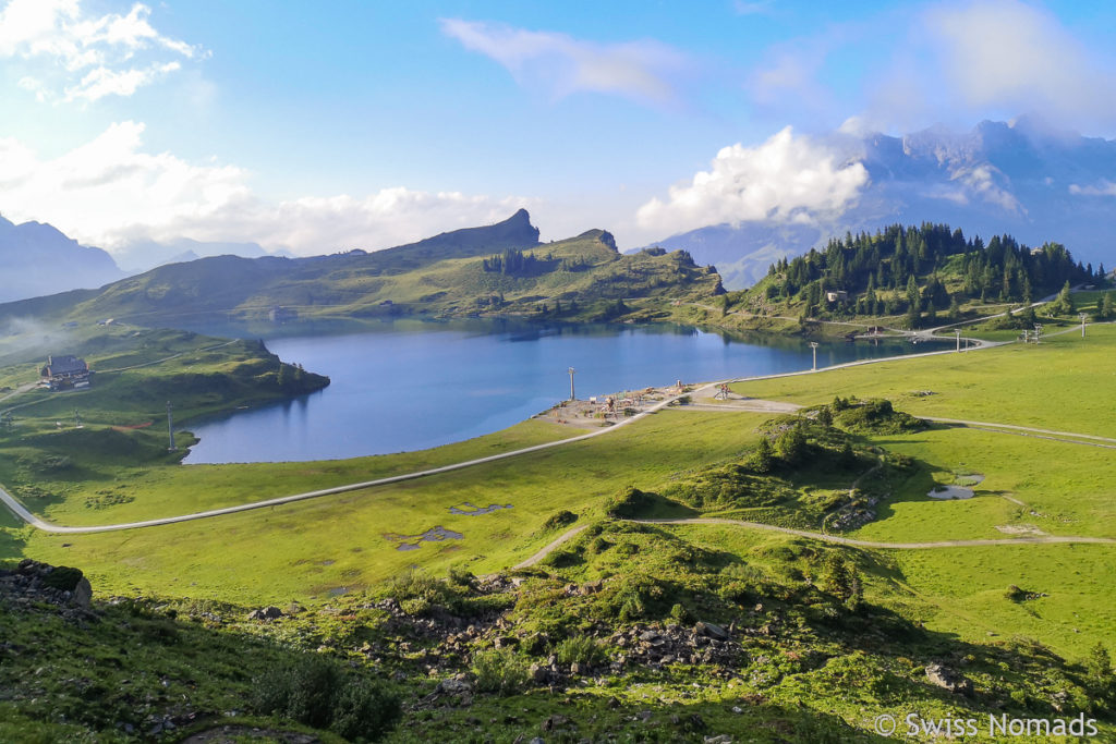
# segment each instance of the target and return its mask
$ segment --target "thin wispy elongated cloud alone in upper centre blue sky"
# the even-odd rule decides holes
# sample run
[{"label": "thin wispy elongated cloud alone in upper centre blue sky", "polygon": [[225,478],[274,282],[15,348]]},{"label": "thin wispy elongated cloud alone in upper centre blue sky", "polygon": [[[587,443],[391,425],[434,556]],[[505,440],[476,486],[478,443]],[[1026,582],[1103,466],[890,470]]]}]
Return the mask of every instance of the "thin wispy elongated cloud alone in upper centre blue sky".
[{"label": "thin wispy elongated cloud alone in upper centre blue sky", "polygon": [[441,26],[466,49],[500,62],[525,88],[555,99],[588,90],[668,104],[677,95],[672,78],[687,66],[681,52],[658,41],[595,44],[455,18],[442,19]]}]

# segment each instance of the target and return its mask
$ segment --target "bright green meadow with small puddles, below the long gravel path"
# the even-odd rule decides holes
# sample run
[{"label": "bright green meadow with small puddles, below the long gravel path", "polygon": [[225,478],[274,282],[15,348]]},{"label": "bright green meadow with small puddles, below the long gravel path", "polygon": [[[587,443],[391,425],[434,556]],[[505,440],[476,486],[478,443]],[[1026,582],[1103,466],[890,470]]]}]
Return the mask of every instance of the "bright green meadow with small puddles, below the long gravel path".
[{"label": "bright green meadow with small puddles, below the long gravel path", "polygon": [[[38,533],[30,537],[27,553],[81,566],[106,590],[173,587],[184,596],[239,601],[289,601],[368,586],[416,562],[435,571],[464,563],[474,572],[489,572],[549,542],[554,535],[539,533],[539,528],[556,511],[591,512],[629,483],[660,482],[734,456],[754,442],[761,421],[663,412],[604,437],[422,481],[166,528]],[[384,461],[392,457],[400,456]],[[449,513],[462,502],[513,508],[479,516]],[[179,505],[185,504],[180,500]],[[420,534],[435,525],[465,538],[402,552],[398,541],[385,538]]]}]

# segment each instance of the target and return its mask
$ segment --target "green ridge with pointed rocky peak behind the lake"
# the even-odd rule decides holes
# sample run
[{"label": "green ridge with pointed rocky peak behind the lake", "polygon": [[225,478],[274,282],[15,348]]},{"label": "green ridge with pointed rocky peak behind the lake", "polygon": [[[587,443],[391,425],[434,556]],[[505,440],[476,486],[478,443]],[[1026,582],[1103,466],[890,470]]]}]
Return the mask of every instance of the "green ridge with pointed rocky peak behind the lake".
[{"label": "green ridge with pointed rocky peak behind the lake", "polygon": [[540,244],[530,215],[383,251],[302,259],[235,255],[157,267],[95,292],[0,306],[0,316],[136,325],[479,313],[610,319],[633,298],[708,298],[720,277],[687,253],[622,255],[590,230]]}]

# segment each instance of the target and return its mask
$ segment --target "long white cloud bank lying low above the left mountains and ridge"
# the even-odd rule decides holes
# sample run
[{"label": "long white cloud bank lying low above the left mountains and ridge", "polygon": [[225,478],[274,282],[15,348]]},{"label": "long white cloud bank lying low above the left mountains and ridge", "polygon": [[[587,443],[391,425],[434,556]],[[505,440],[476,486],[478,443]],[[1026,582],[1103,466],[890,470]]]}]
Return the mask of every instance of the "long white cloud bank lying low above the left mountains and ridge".
[{"label": "long white cloud bank lying low above the left mountains and ridge", "polygon": [[114,124],[54,160],[0,138],[0,207],[6,218],[49,222],[86,244],[190,238],[258,242],[298,254],[375,250],[507,219],[520,197],[383,189],[364,197],[307,196],[280,203],[258,197],[249,173],[196,165],[143,151],[144,125]]}]

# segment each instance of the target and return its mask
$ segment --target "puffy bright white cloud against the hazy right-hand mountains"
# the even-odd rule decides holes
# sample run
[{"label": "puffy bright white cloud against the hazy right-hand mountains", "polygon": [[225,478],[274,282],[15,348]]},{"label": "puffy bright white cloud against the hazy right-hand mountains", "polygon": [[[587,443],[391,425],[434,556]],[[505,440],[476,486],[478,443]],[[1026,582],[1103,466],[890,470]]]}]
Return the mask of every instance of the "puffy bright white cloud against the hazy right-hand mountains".
[{"label": "puffy bright white cloud against the hazy right-hand mountains", "polygon": [[665,202],[641,206],[636,221],[664,234],[724,222],[816,222],[847,210],[867,185],[862,163],[786,127],[758,147],[724,147]]}]

